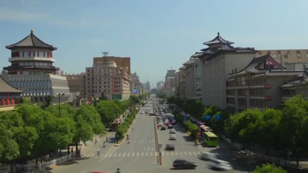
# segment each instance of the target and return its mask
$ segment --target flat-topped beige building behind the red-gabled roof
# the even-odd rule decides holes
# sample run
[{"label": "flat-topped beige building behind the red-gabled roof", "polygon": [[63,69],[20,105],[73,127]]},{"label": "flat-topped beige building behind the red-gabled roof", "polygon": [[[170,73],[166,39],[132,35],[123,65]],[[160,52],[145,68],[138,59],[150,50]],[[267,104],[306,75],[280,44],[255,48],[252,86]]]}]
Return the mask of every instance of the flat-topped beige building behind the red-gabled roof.
[{"label": "flat-topped beige building behind the red-gabled roof", "polygon": [[297,50],[259,50],[256,57],[271,55],[277,62],[282,65],[294,62],[308,62],[308,49]]}]

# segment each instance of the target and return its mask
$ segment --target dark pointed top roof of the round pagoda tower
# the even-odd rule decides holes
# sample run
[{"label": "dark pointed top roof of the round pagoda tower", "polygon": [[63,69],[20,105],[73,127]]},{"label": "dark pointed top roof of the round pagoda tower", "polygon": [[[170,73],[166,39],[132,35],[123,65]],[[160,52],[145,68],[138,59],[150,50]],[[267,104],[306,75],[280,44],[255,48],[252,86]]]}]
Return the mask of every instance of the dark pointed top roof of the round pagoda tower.
[{"label": "dark pointed top roof of the round pagoda tower", "polygon": [[45,48],[45,49],[50,49],[52,51],[57,50],[57,48],[53,47],[52,45],[46,44],[40,38],[36,37],[33,34],[33,30],[31,30],[30,34],[26,36],[24,39],[22,39],[19,42],[16,42],[16,44],[6,46],[6,48],[10,50],[16,48],[29,48],[29,47]]}]

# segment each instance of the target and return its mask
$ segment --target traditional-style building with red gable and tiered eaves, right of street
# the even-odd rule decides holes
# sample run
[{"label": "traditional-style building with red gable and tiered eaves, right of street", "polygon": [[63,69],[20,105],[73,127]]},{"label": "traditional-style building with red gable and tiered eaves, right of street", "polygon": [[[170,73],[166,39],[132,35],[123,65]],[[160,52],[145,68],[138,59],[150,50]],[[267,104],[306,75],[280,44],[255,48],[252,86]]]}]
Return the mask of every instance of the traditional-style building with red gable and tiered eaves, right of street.
[{"label": "traditional-style building with red gable and tiered eaves, right of street", "polygon": [[254,58],[245,68],[232,71],[226,84],[226,104],[227,109],[233,113],[248,108],[281,108],[281,95],[286,91],[282,92],[281,87],[296,91],[293,86],[298,84],[298,89],[301,88],[306,78],[304,75],[299,81],[284,84],[302,75],[304,71],[286,70],[270,55]]}]

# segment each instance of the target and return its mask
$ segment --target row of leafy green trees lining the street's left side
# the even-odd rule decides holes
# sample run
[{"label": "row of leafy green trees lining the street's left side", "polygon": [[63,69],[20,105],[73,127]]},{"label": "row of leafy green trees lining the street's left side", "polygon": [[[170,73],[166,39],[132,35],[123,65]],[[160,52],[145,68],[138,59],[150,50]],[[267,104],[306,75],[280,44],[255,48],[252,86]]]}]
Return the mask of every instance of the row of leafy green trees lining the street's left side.
[{"label": "row of leafy green trees lining the street's left side", "polygon": [[21,162],[41,157],[57,149],[68,149],[80,141],[102,134],[105,127],[93,106],[75,110],[69,105],[22,104],[15,111],[0,114],[0,162]]}]

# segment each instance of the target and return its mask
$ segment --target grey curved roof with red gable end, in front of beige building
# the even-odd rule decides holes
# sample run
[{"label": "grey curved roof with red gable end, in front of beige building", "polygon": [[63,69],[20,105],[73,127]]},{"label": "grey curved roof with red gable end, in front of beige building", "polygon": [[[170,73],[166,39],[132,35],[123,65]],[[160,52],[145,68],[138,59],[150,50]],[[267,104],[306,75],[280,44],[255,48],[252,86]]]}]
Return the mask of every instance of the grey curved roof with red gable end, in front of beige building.
[{"label": "grey curved roof with red gable end, in front of beige building", "polygon": [[261,57],[253,58],[250,63],[241,71],[232,73],[232,76],[243,75],[246,73],[265,73],[268,70],[284,69],[277,61],[275,61],[271,55],[264,55]]}]

